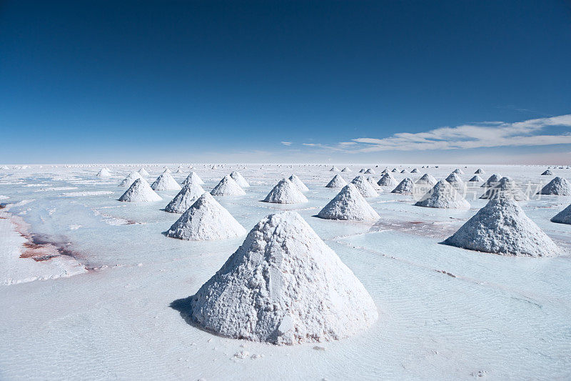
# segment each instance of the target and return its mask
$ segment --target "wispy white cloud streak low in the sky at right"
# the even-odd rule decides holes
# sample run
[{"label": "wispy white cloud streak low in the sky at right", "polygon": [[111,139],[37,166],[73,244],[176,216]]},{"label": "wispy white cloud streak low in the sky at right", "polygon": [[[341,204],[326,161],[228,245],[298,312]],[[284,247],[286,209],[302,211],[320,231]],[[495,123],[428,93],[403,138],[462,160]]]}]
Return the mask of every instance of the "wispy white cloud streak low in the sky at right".
[{"label": "wispy white cloud streak low in the sky at right", "polygon": [[571,114],[523,122],[481,122],[440,127],[428,132],[401,132],[385,138],[360,137],[335,145],[304,144],[345,152],[425,151],[483,147],[571,144],[571,132],[542,134],[547,127],[571,127]]}]

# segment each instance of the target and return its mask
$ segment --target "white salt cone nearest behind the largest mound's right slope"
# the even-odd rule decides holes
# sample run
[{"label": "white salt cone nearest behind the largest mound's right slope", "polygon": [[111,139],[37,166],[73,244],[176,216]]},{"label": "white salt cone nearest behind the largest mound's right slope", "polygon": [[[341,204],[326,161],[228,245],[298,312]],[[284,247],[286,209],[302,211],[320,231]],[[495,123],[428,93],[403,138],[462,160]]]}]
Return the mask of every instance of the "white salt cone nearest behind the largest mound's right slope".
[{"label": "white salt cone nearest behind the largest mound's right slope", "polygon": [[347,184],[318,213],[325,219],[343,219],[356,221],[377,221],[380,216],[360,194],[353,184]]}]

